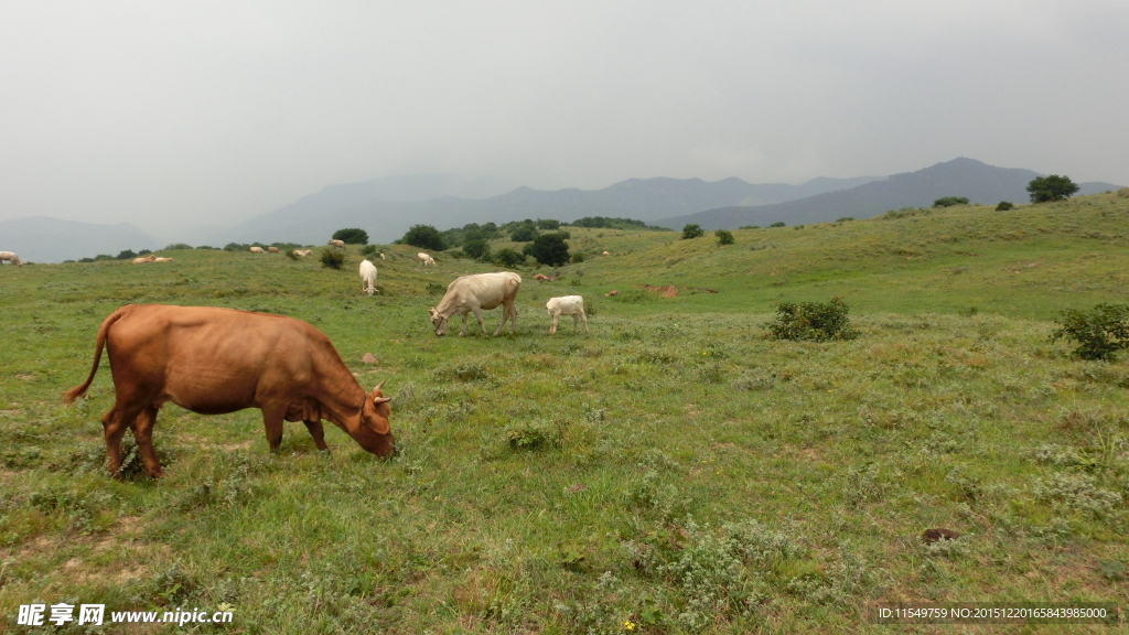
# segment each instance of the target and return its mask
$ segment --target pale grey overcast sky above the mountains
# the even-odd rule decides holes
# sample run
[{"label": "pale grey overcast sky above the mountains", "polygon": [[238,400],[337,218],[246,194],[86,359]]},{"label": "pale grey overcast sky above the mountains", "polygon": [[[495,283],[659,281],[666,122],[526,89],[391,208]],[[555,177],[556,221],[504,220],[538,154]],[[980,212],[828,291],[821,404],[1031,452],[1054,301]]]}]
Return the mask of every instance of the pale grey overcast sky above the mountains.
[{"label": "pale grey overcast sky above the mountains", "polygon": [[1127,34],[1126,0],[0,0],[0,219],[159,232],[391,174],[799,183],[957,156],[1129,184]]}]

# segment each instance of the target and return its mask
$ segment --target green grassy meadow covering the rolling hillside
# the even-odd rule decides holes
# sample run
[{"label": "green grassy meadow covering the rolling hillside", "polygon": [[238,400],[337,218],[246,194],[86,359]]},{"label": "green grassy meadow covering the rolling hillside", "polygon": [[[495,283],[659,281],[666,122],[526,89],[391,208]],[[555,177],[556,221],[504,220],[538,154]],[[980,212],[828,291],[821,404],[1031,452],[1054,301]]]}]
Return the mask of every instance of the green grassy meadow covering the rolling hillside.
[{"label": "green grassy meadow covering the rolling hillside", "polygon": [[[356,247],[341,271],[316,252],[203,250],[0,269],[0,630],[60,601],[226,606],[233,624],[195,628],[294,634],[980,633],[1000,627],[867,609],[1124,610],[1129,363],[1048,337],[1065,308],[1129,302],[1129,198],[742,229],[727,246],[569,230],[586,261],[553,282],[519,270],[518,332],[498,338],[473,318],[475,337],[456,321],[437,338],[427,315],[453,277],[495,269],[443,253],[423,269],[408,246],[384,247],[374,297]],[[564,316],[548,336],[545,301],[571,294],[590,334]],[[777,302],[832,296],[857,339],[768,339]],[[86,399],[60,395],[128,303],[314,324],[366,389],[387,380],[397,455],[334,426],[322,453],[301,424],[272,454],[257,410],[168,405],[167,476],[134,459],[106,477],[108,363]],[[492,333],[500,311],[485,315]],[[927,546],[928,528],[962,536]]]}]

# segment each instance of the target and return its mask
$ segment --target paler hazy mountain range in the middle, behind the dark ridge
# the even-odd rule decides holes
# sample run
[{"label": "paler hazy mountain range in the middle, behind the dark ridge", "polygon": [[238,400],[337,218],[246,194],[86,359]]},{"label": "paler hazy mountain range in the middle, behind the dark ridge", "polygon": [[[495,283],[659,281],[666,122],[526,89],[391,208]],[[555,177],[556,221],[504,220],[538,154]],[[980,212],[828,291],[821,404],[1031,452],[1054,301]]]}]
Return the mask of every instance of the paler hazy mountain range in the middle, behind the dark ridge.
[{"label": "paler hazy mountain range in the middle, behind the dark ridge", "polygon": [[298,201],[217,233],[213,243],[324,243],[342,227],[360,227],[378,243],[401,237],[423,223],[440,229],[467,223],[506,223],[523,218],[576,220],[585,216],[618,216],[655,220],[706,209],[764,205],[852,188],[877,176],[814,179],[802,185],[752,184],[741,179],[706,182],[700,179],[630,179],[602,190],[533,190],[518,188],[485,199],[453,195],[420,200],[443,191],[445,176],[400,176],[334,185]]}]

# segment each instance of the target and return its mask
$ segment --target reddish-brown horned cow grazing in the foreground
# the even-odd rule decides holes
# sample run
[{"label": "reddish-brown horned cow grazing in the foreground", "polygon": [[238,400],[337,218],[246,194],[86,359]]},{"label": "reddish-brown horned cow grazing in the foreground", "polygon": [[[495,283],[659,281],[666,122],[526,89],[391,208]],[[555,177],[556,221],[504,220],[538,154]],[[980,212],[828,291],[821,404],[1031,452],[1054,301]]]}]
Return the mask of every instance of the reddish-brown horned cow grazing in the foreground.
[{"label": "reddish-brown horned cow grazing in the foreground", "polygon": [[318,450],[327,450],[322,419],[329,419],[374,454],[393,451],[384,382],[365,392],[330,339],[299,320],[209,306],[125,305],[103,320],[90,375],[63,394],[64,403],[90,388],[104,346],[116,394],[102,417],[111,475],[121,470],[129,427],[146,471],[161,476],[152,426],[166,401],[201,415],[260,408],[272,451],[282,441],[283,419],[305,421]]}]

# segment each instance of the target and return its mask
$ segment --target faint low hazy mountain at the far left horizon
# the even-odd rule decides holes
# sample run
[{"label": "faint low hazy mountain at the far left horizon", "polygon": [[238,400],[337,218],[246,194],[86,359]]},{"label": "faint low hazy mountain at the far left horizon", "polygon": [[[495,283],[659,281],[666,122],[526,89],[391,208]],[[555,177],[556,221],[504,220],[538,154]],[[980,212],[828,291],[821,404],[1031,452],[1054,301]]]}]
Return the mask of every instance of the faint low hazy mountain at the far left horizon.
[{"label": "faint low hazy mountain at the far left horizon", "polygon": [[25,262],[62,262],[159,246],[152,236],[129,223],[98,225],[50,216],[0,220],[0,251],[14,251]]}]

